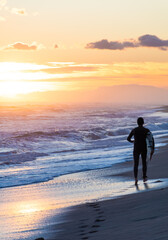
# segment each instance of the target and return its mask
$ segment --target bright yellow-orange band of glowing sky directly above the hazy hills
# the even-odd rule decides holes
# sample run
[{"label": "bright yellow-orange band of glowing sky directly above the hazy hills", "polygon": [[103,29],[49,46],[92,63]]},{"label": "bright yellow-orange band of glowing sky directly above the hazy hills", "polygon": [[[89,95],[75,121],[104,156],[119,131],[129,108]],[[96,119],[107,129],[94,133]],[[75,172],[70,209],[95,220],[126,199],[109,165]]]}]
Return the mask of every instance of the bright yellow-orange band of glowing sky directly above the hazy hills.
[{"label": "bright yellow-orange band of glowing sky directly above the hazy hills", "polygon": [[[119,84],[168,86],[168,63],[121,62],[114,64],[0,63],[0,96],[72,89],[95,89]],[[83,80],[85,78],[85,81]],[[159,79],[159,81],[158,81]],[[87,87],[86,87],[86,84]]]}]

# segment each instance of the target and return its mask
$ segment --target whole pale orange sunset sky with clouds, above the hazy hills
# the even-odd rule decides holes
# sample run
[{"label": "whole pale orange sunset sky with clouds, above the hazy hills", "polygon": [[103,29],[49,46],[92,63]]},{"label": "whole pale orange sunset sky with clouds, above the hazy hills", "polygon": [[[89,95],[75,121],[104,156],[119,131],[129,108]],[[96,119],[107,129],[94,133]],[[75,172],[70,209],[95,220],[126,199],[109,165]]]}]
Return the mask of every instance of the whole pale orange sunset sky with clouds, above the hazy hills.
[{"label": "whole pale orange sunset sky with clouds, above the hazy hills", "polygon": [[168,88],[167,0],[0,0],[0,96]]}]

